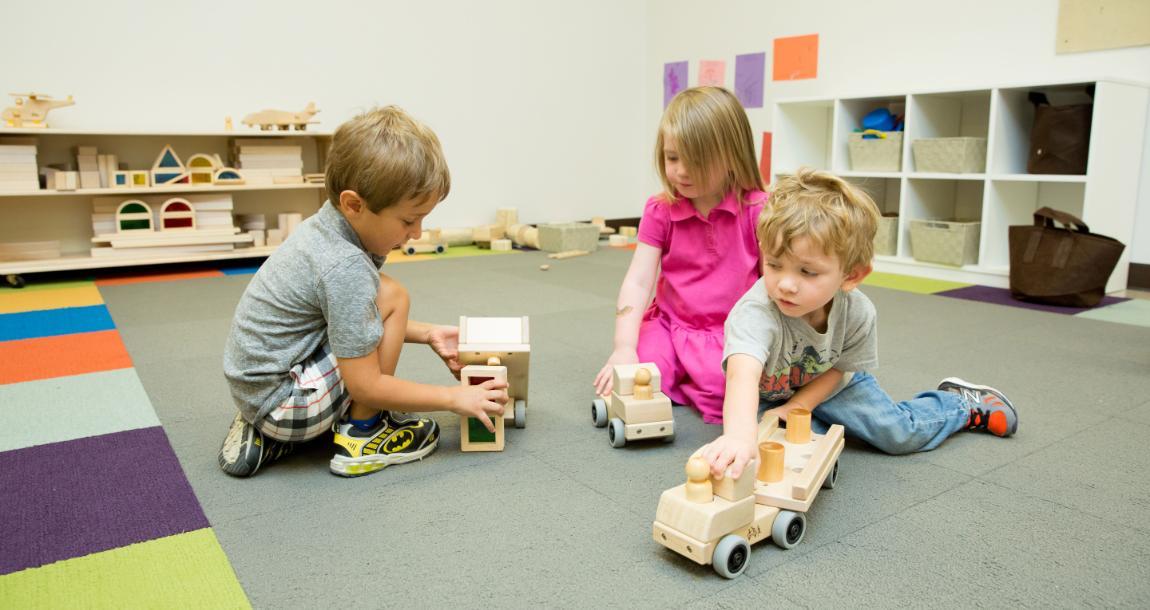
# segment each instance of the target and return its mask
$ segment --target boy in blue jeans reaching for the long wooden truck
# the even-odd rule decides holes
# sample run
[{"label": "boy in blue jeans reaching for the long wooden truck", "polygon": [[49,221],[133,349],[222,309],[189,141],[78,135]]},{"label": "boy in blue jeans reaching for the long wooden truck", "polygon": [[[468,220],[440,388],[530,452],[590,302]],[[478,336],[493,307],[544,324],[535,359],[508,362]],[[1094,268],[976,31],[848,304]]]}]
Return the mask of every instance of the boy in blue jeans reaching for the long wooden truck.
[{"label": "boy in blue jeans reaching for the long wooden truck", "polygon": [[871,273],[877,222],[865,192],[826,171],[800,169],[772,190],[756,231],[762,277],[727,317],[723,434],[703,449],[716,479],[758,457],[760,410],[781,421],[810,411],[816,432],[839,424],[892,455],[929,451],[963,429],[1018,428],[994,388],[948,378],[896,403],[867,373],[877,366],[876,317],[856,288]]}]

